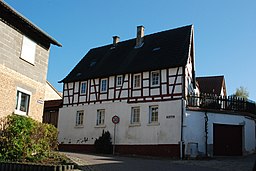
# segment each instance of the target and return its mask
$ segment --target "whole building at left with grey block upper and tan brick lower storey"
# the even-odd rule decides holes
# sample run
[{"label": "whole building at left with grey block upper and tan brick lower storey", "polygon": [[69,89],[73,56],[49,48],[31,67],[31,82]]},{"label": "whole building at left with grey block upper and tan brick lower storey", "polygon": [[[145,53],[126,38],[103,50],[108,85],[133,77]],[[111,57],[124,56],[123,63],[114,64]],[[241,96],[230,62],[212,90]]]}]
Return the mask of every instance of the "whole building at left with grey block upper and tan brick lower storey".
[{"label": "whole building at left with grey block upper and tan brick lower storey", "polygon": [[0,117],[42,121],[50,45],[59,42],[0,1]]}]

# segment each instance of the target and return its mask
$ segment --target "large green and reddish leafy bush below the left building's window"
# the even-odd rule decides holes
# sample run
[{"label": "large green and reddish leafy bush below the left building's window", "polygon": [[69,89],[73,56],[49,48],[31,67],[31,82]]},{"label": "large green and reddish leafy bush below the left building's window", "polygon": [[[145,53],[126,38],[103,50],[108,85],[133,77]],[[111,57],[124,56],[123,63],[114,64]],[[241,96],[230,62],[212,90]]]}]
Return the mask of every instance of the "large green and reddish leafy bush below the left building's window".
[{"label": "large green and reddish leafy bush below the left building's window", "polygon": [[36,162],[57,149],[57,129],[29,117],[9,115],[1,120],[0,159]]}]

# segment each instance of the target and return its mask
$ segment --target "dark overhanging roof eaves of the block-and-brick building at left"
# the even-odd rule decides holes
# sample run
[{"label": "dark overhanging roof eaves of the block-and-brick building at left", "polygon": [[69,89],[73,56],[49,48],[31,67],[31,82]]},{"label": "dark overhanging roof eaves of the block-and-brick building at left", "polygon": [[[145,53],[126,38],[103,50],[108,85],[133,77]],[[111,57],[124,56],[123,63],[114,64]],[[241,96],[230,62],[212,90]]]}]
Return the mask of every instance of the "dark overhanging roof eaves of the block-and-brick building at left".
[{"label": "dark overhanging roof eaves of the block-and-brick building at left", "polygon": [[50,44],[62,46],[58,41],[2,0],[0,0],[0,20],[47,49],[50,47]]}]

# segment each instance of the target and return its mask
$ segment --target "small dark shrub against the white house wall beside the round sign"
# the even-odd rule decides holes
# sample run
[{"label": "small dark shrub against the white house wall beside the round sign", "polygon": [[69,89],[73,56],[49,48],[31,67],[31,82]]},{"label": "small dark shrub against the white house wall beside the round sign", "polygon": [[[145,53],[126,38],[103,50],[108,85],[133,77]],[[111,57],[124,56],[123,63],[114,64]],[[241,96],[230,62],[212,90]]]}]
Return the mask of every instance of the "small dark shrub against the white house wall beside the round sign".
[{"label": "small dark shrub against the white house wall beside the round sign", "polygon": [[94,147],[97,153],[111,154],[113,147],[109,131],[102,132],[102,135],[95,140]]}]

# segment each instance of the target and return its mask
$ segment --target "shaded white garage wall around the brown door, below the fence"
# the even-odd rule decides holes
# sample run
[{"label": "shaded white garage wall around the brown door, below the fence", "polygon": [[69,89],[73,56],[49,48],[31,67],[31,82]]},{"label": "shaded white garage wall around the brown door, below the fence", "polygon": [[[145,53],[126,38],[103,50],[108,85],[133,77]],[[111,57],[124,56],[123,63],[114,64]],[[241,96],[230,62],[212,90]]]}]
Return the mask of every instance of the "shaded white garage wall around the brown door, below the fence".
[{"label": "shaded white garage wall around the brown door, below the fence", "polygon": [[[244,153],[255,151],[255,122],[242,115],[211,113],[208,116],[208,145],[213,144],[213,124],[244,125]],[[184,141],[198,143],[198,150],[205,153],[205,112],[187,110],[184,116]],[[187,150],[187,149],[186,149]],[[211,150],[211,149],[209,149]],[[212,153],[210,151],[210,153]]]}]

